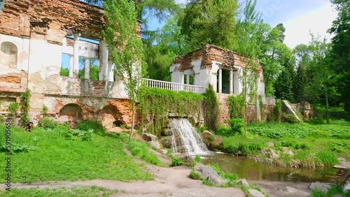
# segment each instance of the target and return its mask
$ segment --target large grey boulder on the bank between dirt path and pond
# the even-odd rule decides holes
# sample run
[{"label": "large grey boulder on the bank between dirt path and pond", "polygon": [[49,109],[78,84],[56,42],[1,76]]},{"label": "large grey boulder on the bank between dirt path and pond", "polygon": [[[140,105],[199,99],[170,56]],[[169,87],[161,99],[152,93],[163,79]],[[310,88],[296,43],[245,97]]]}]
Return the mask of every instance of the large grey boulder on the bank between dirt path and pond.
[{"label": "large grey boulder on the bank between dirt path and pond", "polygon": [[194,169],[195,169],[195,173],[199,174],[203,180],[208,180],[208,182],[212,184],[220,186],[228,183],[227,180],[223,180],[221,175],[219,175],[216,172],[216,170],[214,170],[210,166],[205,166],[202,163],[197,163]]}]

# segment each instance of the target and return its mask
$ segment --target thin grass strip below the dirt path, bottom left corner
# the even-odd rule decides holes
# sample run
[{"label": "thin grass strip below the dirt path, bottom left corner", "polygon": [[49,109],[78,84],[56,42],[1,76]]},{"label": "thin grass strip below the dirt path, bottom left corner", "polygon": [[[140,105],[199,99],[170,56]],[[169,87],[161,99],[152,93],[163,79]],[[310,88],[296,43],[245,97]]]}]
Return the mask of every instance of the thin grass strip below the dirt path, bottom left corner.
[{"label": "thin grass strip below the dirt path, bottom left corner", "polygon": [[31,189],[16,189],[10,191],[0,190],[0,196],[110,196],[117,194],[120,191],[107,190],[101,187],[57,187],[57,188],[31,188]]}]

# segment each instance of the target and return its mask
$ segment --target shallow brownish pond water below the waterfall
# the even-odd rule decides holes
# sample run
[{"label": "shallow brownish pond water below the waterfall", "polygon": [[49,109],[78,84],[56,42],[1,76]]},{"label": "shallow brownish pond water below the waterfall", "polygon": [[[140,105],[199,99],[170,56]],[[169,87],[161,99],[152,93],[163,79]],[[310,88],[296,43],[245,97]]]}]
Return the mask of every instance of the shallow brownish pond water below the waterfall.
[{"label": "shallow brownish pond water below the waterfall", "polygon": [[246,180],[269,180],[279,182],[334,182],[335,168],[281,168],[255,162],[244,156],[211,153],[201,156],[204,164],[217,164],[225,173],[236,173]]}]

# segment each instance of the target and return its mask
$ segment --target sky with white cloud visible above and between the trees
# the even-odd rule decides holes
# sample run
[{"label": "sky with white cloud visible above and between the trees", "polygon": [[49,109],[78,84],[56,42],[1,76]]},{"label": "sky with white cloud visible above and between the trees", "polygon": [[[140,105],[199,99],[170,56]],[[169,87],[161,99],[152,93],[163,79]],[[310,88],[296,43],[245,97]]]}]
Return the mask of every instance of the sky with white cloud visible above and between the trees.
[{"label": "sky with white cloud visible above and between the trees", "polygon": [[[186,3],[186,0],[176,1]],[[331,38],[326,31],[337,17],[329,0],[258,0],[256,9],[262,13],[264,22],[272,27],[283,23],[286,27],[285,43],[290,48],[300,43],[309,43],[309,32],[319,34],[322,38]],[[155,30],[162,27],[162,24],[152,19],[148,22],[148,27]]]}]

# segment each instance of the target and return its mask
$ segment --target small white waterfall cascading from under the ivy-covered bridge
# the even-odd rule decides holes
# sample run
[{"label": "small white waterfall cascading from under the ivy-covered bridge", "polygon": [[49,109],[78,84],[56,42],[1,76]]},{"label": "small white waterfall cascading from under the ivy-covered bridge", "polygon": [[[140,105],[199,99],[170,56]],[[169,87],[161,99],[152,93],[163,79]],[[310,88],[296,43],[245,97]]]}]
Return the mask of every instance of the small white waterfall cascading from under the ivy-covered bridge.
[{"label": "small white waterfall cascading from under the ivy-covered bridge", "polygon": [[186,118],[169,119],[169,127],[173,130],[172,148],[174,152],[189,154],[205,154],[208,151],[195,127]]}]

